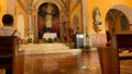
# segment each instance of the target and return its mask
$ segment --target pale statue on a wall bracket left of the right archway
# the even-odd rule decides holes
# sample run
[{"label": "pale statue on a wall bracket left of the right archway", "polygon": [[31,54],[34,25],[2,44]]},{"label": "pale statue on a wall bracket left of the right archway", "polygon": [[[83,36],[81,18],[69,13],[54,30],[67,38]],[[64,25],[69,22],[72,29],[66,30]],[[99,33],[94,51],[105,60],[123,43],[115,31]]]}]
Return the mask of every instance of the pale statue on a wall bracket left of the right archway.
[{"label": "pale statue on a wall bracket left of the right archway", "polygon": [[94,27],[97,33],[102,29],[102,22],[101,22],[100,17],[101,17],[100,10],[98,8],[95,8],[95,10],[94,10]]}]

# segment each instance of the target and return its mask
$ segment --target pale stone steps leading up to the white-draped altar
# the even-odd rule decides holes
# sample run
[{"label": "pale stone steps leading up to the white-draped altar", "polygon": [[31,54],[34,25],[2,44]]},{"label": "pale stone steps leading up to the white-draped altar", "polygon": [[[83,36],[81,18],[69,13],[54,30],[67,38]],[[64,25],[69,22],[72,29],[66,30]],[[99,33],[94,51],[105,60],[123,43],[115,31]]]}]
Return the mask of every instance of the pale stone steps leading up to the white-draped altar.
[{"label": "pale stone steps leading up to the white-draped altar", "polygon": [[29,44],[21,45],[20,50],[25,54],[44,54],[44,53],[80,53],[81,49],[69,49],[64,44]]}]

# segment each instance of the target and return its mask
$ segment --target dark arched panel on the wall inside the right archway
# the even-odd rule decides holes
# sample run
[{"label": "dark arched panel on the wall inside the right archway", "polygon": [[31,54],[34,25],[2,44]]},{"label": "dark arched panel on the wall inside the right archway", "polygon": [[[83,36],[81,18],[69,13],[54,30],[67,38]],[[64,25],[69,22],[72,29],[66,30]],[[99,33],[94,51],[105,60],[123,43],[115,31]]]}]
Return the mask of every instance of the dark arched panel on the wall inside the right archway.
[{"label": "dark arched panel on the wall inside the right archway", "polygon": [[121,22],[121,30],[128,30],[129,29],[129,26],[128,26],[129,21],[125,15],[121,16],[120,22]]}]

